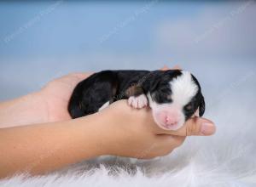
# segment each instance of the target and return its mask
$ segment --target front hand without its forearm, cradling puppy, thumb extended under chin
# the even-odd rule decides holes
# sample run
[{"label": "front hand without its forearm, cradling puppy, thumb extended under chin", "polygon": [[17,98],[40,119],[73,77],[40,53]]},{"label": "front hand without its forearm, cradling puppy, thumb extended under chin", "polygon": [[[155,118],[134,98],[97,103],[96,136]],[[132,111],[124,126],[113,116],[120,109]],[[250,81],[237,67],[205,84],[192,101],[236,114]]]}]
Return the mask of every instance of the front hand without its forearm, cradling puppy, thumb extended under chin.
[{"label": "front hand without its forearm, cradling puppy, thumb extended under chin", "polygon": [[166,131],[155,125],[151,110],[134,109],[125,100],[119,100],[100,111],[108,122],[104,124],[106,155],[149,159],[165,156],[183,144],[186,136],[212,135],[214,124],[195,117],[177,131]]}]

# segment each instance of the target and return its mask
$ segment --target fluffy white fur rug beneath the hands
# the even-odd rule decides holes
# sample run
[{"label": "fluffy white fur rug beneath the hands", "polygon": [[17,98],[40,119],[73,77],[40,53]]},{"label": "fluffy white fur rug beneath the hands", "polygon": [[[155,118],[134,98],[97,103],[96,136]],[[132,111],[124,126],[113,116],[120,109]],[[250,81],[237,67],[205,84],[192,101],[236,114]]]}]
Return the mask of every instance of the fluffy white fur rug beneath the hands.
[{"label": "fluffy white fur rug beneath the hands", "polygon": [[6,178],[0,186],[256,186],[255,94],[233,91],[208,102],[206,116],[217,133],[188,137],[170,156],[84,161],[45,176]]}]

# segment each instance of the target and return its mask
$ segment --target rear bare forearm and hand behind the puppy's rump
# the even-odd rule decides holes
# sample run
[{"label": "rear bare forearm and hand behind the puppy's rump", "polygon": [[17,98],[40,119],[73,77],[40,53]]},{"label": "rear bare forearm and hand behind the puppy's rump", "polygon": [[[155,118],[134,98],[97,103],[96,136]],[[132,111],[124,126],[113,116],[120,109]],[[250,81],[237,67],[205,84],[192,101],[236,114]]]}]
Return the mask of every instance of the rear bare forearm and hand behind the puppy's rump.
[{"label": "rear bare forearm and hand behind the puppy's rump", "polygon": [[67,105],[73,88],[90,73],[72,73],[47,83],[38,92],[0,103],[0,128],[71,119]]}]

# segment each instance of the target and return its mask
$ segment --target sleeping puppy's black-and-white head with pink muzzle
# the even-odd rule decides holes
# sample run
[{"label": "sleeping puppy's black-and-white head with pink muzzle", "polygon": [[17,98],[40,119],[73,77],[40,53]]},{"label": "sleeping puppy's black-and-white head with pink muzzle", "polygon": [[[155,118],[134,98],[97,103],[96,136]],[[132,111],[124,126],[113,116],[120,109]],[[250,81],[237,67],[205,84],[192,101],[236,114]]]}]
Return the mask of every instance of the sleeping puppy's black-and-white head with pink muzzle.
[{"label": "sleeping puppy's black-and-white head with pink muzzle", "polygon": [[204,114],[205,101],[200,84],[189,71],[154,72],[148,90],[154,121],[163,129],[177,130],[197,109],[199,116]]}]

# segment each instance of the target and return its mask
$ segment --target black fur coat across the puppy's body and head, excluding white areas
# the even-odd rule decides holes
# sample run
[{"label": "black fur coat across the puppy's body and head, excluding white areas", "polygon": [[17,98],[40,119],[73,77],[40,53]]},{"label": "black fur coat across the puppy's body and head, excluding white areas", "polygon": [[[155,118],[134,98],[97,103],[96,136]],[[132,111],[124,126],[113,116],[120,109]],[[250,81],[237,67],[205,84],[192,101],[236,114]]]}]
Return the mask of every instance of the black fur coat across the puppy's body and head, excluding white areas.
[{"label": "black fur coat across the puppy's body and head, excluding white areas", "polygon": [[[172,90],[169,82],[181,75],[179,70],[170,71],[101,71],[88,77],[74,88],[68,111],[73,118],[95,113],[106,102],[113,103],[130,96],[151,94],[159,104],[171,103]],[[199,82],[193,77],[199,91],[183,109],[186,119],[200,107],[200,116],[205,111],[204,98]],[[190,107],[191,105],[191,107]],[[188,107],[189,106],[189,107]]]}]

